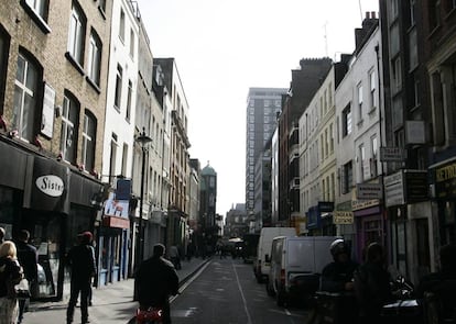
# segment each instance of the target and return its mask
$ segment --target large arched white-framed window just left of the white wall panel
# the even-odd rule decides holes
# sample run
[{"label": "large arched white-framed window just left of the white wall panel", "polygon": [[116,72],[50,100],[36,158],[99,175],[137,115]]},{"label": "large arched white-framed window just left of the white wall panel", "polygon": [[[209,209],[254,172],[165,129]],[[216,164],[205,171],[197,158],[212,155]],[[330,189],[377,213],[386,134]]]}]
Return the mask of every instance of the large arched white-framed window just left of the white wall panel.
[{"label": "large arched white-framed window just left of the white wall panel", "polygon": [[14,81],[14,105],[12,127],[18,136],[30,142],[35,135],[37,118],[36,98],[39,91],[40,71],[36,64],[23,53],[18,56],[18,70]]}]

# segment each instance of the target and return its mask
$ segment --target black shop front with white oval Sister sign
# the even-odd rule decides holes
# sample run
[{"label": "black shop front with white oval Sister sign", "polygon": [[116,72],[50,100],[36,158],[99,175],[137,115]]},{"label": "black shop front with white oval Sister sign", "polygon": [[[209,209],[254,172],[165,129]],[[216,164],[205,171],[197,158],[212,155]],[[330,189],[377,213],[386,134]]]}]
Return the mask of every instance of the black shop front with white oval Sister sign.
[{"label": "black shop front with white oval Sister sign", "polygon": [[[78,231],[90,231],[90,194],[96,180],[79,176],[68,165],[0,141],[0,226],[7,239],[21,230],[31,233],[39,253],[39,280],[32,298],[61,300],[68,278],[64,257]],[[79,179],[80,178],[80,179]]]}]

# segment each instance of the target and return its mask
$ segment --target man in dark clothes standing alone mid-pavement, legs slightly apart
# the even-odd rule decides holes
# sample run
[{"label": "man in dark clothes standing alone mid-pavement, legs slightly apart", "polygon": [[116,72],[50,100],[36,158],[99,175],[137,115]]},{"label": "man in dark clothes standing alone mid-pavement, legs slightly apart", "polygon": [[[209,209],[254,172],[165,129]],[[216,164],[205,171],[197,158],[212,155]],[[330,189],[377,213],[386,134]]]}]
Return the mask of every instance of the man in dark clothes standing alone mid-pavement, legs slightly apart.
[{"label": "man in dark clothes standing alone mid-pavement, legs slightly apart", "polygon": [[95,252],[91,246],[91,233],[84,232],[78,235],[79,244],[74,246],[67,255],[67,262],[70,266],[72,286],[68,308],[66,310],[66,323],[73,323],[77,298],[80,292],[80,317],[83,324],[90,323],[88,320],[88,294],[90,291],[91,278],[97,271],[95,264]]}]

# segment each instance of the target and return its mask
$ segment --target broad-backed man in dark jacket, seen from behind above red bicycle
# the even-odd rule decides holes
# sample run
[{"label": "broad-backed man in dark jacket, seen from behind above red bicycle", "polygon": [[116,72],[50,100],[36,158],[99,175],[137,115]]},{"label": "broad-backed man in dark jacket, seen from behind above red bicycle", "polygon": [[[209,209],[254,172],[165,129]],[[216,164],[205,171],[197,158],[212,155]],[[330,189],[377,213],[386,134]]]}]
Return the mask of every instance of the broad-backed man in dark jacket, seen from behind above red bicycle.
[{"label": "broad-backed man in dark jacket, seen from behind above red bicycle", "polygon": [[163,257],[164,254],[164,245],[154,245],[153,256],[144,260],[135,273],[135,286],[140,309],[161,308],[163,310],[163,323],[170,324],[169,299],[178,292],[178,277],[173,264]]}]

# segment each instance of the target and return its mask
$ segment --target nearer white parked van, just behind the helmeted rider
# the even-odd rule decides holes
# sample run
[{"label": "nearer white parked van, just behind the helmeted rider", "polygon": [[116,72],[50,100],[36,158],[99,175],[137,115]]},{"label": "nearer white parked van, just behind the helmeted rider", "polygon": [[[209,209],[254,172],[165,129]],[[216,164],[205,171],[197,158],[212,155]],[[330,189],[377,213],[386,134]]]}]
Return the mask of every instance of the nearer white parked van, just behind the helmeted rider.
[{"label": "nearer white parked van, just behind the helmeted rider", "polygon": [[271,244],[267,292],[280,306],[306,301],[319,286],[323,268],[333,261],[329,247],[336,236],[275,237]]}]

